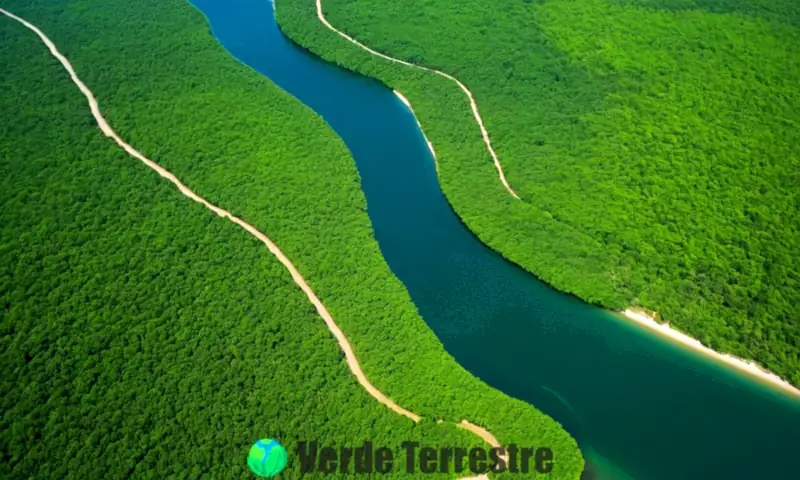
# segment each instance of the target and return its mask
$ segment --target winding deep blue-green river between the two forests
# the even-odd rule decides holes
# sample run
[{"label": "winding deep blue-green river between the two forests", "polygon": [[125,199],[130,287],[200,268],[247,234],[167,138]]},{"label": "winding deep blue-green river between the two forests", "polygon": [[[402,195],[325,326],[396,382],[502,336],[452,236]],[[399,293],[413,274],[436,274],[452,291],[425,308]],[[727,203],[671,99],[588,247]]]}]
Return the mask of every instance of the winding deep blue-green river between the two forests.
[{"label": "winding deep blue-green river between the two forests", "polygon": [[483,246],[442,195],[405,106],[292,44],[268,0],[193,4],[232,55],[344,140],[384,257],[425,321],[465,368],[564,425],[589,460],[586,478],[797,478],[800,402],[556,292]]}]

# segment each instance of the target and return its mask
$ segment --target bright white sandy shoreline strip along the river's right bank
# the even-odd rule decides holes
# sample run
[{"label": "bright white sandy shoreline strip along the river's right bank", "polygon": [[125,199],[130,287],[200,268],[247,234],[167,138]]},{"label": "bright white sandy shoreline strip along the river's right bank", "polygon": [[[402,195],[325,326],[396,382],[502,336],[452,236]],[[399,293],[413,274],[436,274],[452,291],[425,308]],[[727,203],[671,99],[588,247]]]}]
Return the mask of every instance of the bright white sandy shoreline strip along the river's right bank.
[{"label": "bright white sandy shoreline strip along the river's right bank", "polygon": [[670,327],[668,323],[658,323],[652,316],[641,311],[637,311],[635,308],[629,307],[619,313],[628,320],[632,320],[645,329],[659,334],[661,337],[668,337],[676,343],[679,343],[691,350],[699,352],[707,357],[719,360],[722,363],[733,367],[736,371],[744,372],[752,377],[756,377],[759,380],[764,380],[770,385],[778,387],[787,393],[791,393],[796,398],[800,398],[800,389],[752,360],[746,360],[727,353],[720,353],[703,345],[696,338],[690,337],[683,332],[675,330],[674,328]]}]

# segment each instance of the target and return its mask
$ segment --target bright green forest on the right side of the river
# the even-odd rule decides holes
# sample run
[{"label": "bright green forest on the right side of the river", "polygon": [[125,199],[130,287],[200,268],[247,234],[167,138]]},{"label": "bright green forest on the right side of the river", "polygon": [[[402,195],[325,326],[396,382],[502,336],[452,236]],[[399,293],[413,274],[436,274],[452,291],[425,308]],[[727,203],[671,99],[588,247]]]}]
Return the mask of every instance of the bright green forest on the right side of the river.
[{"label": "bright green forest on the right side of the river", "polygon": [[612,309],[655,310],[800,385],[800,4],[277,0],[281,28],[413,104],[487,245]]}]

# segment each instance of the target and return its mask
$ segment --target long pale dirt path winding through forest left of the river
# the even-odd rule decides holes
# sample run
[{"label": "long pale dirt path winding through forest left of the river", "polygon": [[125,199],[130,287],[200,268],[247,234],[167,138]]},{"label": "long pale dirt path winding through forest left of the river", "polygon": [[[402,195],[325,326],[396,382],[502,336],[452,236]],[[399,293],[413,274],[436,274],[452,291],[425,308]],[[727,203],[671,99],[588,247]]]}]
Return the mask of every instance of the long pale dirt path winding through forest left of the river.
[{"label": "long pale dirt path winding through forest left of the river", "polygon": [[[135,148],[133,148],[124,140],[122,140],[122,138],[120,138],[120,136],[117,135],[117,133],[111,128],[106,119],[100,113],[100,107],[98,107],[97,100],[94,98],[92,91],[89,90],[86,84],[84,84],[81,81],[77,73],[75,73],[75,69],[72,68],[72,64],[69,62],[69,60],[67,60],[67,58],[64,55],[61,54],[61,52],[58,51],[55,44],[41,30],[39,30],[38,27],[28,22],[27,20],[20,18],[3,8],[0,8],[0,13],[16,20],[17,22],[27,27],[29,30],[36,33],[36,35],[39,36],[42,42],[44,42],[45,45],[47,45],[47,48],[50,49],[50,53],[53,54],[53,56],[56,57],[58,61],[61,62],[61,64],[64,66],[67,72],[69,72],[69,76],[72,79],[72,81],[75,83],[75,85],[78,86],[81,93],[83,93],[83,95],[89,101],[89,108],[92,111],[92,115],[97,121],[97,125],[100,127],[100,130],[102,130],[107,137],[110,137],[112,140],[114,140],[114,142],[116,142],[117,145],[122,147],[122,149],[128,152],[128,154],[130,154],[132,157],[141,160],[142,162],[144,162],[145,165],[158,172],[159,175],[172,182],[176,187],[178,187],[178,190],[180,190],[182,194],[186,195],[187,197],[191,198],[196,202],[203,204],[205,207],[207,207],[209,210],[213,211],[217,215],[229,219],[233,223],[247,230],[251,235],[253,235],[257,239],[261,240],[267,246],[270,253],[275,255],[275,257],[277,257],[277,259],[283,264],[283,266],[286,267],[286,269],[292,275],[292,279],[294,280],[294,282],[300,287],[301,290],[303,290],[303,293],[306,294],[311,303],[314,304],[314,307],[317,309],[317,313],[319,314],[319,316],[322,317],[323,320],[325,320],[325,324],[328,326],[328,329],[331,331],[331,333],[333,333],[333,336],[336,337],[336,340],[339,342],[339,346],[344,352],[345,358],[347,360],[347,366],[350,368],[350,371],[353,372],[353,375],[355,375],[356,378],[358,379],[358,383],[360,383],[361,386],[364,387],[364,389],[366,389],[367,392],[369,392],[369,394],[372,395],[376,400],[389,407],[392,411],[411,419],[415,423],[420,421],[421,417],[419,415],[409,410],[406,410],[405,408],[396,404],[390,398],[384,395],[383,392],[375,388],[375,386],[372,385],[372,383],[370,383],[370,381],[367,379],[367,376],[364,374],[364,371],[361,370],[361,365],[358,363],[358,358],[353,352],[353,347],[350,345],[350,342],[347,340],[347,337],[345,337],[342,330],[333,320],[333,317],[331,316],[330,312],[328,312],[328,309],[325,308],[325,305],[322,304],[322,301],[320,301],[320,299],[317,297],[317,295],[314,293],[311,287],[308,286],[308,283],[306,283],[303,276],[300,275],[300,272],[297,271],[297,268],[295,268],[292,262],[286,257],[286,255],[283,254],[283,252],[281,252],[281,250],[275,243],[272,242],[272,240],[270,240],[266,235],[258,231],[255,227],[253,227],[249,223],[245,222],[244,220],[234,215],[231,215],[231,213],[228,212],[227,210],[223,210],[213,205],[212,203],[208,202],[203,197],[197,195],[196,193],[191,191],[186,185],[184,185],[180,180],[178,180],[178,178],[175,175],[173,175],[168,170],[161,167],[154,161],[145,157],[144,155],[139,153],[139,151],[137,151]],[[497,447],[497,448],[501,447],[500,442],[497,441],[497,438],[495,438],[494,435],[492,435],[489,431],[487,431],[482,427],[474,425],[466,420],[462,420],[461,423],[457,424],[457,426],[459,428],[463,428],[465,430],[474,433],[482,440],[489,443],[492,447]],[[505,460],[507,460],[507,456],[503,455],[502,457]],[[470,479],[464,478],[461,480],[485,479],[485,478],[487,478],[486,475],[481,475],[479,477],[471,477]]]}]

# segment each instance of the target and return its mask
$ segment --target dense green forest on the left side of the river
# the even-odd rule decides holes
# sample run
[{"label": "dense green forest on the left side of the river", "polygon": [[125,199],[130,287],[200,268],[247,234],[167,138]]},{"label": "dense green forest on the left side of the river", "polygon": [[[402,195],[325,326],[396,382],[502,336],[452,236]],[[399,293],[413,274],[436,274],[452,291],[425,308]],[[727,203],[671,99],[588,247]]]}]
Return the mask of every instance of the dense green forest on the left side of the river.
[{"label": "dense green forest on the left side of the river", "polygon": [[300,478],[300,440],[480,444],[438,418],[550,446],[548,477],[579,477],[575,441],[471,376],[420,318],[341,140],[230,57],[187,2],[3,8],[55,42],[122,138],[269,235],[375,386],[424,418],[370,397],[263,244],[104,137],[46,46],[3,16],[0,478],[250,478],[264,437],[289,450],[281,478]]}]

